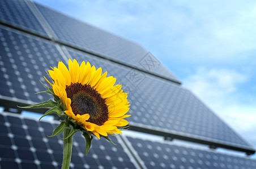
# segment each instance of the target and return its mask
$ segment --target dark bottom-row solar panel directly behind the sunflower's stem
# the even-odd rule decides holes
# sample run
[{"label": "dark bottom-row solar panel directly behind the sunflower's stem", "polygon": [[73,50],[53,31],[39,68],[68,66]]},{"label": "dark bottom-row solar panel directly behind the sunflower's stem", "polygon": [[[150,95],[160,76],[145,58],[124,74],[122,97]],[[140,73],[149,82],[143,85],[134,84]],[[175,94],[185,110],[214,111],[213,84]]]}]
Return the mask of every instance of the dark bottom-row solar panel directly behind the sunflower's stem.
[{"label": "dark bottom-row solar panel directly behind the sunflower's stem", "polygon": [[[42,121],[12,113],[0,113],[0,168],[61,168],[63,141],[47,137],[58,121]],[[136,168],[126,146],[118,137],[113,145],[105,139],[94,139],[85,156],[85,140],[73,137],[70,168]]]}]

